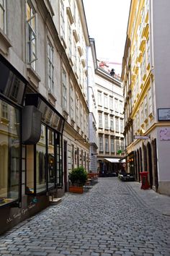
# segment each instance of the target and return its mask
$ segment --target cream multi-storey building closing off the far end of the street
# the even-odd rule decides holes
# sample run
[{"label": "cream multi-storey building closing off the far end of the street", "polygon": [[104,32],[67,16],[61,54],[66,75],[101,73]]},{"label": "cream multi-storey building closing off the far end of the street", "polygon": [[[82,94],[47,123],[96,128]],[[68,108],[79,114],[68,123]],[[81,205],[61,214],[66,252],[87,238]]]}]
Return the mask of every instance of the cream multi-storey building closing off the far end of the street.
[{"label": "cream multi-storey building closing off the far end of the street", "polygon": [[101,67],[95,70],[99,176],[114,176],[122,168],[124,116],[122,84]]}]

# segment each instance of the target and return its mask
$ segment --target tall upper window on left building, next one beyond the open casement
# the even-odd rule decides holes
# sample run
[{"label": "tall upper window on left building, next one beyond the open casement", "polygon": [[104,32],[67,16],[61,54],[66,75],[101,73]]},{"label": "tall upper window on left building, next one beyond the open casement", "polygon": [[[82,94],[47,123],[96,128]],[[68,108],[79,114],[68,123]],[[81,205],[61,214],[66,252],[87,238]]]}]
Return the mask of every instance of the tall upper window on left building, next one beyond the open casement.
[{"label": "tall upper window on left building, next one beyond the open casement", "polygon": [[48,90],[53,93],[54,90],[54,63],[53,63],[54,49],[48,42]]}]

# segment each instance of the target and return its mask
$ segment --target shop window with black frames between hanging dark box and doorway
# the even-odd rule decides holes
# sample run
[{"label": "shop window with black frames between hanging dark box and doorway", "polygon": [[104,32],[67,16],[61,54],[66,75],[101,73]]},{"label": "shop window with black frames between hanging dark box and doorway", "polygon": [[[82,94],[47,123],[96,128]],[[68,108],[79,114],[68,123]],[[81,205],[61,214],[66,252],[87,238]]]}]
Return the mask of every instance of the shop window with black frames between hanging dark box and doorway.
[{"label": "shop window with black frames between hanging dark box and doorway", "polygon": [[[27,145],[26,194],[38,194],[62,186],[62,137],[41,124],[36,145]],[[35,162],[36,161],[36,162]]]}]

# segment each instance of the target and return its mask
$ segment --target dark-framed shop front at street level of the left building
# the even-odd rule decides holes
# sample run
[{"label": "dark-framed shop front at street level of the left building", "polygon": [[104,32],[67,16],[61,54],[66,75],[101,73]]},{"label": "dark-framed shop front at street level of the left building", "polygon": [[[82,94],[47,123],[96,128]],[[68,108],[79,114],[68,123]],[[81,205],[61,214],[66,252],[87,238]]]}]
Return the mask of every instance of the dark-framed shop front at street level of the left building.
[{"label": "dark-framed shop front at street level of the left building", "polygon": [[63,191],[64,119],[0,56],[0,234]]}]

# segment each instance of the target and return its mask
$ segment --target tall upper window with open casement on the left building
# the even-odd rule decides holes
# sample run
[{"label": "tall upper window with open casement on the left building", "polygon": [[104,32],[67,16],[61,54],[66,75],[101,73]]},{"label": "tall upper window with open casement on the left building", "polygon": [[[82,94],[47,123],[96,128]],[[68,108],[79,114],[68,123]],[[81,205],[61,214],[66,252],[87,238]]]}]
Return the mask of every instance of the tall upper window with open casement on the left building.
[{"label": "tall upper window with open casement on the left building", "polygon": [[37,24],[36,13],[27,1],[27,63],[37,71]]}]

